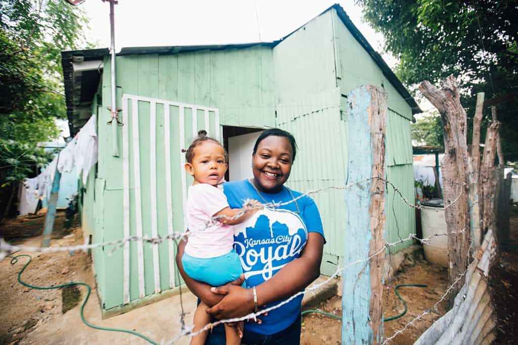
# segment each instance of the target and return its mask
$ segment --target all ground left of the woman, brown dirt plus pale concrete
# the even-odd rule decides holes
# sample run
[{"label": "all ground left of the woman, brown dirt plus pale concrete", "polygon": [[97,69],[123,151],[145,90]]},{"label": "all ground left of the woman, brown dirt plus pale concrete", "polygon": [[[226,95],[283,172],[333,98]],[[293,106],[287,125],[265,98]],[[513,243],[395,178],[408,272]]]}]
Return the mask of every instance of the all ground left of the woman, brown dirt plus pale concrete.
[{"label": "all ground left of the woman, brown dirt plus pale concrete", "polygon": [[[58,214],[55,231],[50,245],[69,246],[83,243],[80,228],[64,229],[64,214]],[[7,234],[9,242],[26,246],[40,246],[44,215],[10,219],[0,227],[0,235]],[[73,222],[73,224],[76,222]],[[29,235],[29,236],[27,236]],[[52,287],[67,282],[84,282],[90,285],[92,293],[84,307],[84,317],[94,325],[123,328],[136,331],[157,343],[174,339],[180,332],[180,296],[169,298],[134,309],[119,316],[103,319],[99,308],[96,286],[92,272],[92,261],[82,251],[59,251],[45,254],[30,254],[32,262],[22,273],[21,279],[39,287]],[[85,287],[56,290],[36,290],[22,286],[18,272],[28,258],[10,264],[11,258],[0,261],[0,345],[23,344],[145,344],[135,335],[120,332],[106,332],[92,329],[83,324],[80,305],[85,298]],[[186,320],[192,318],[195,297],[189,292],[182,295]],[[189,342],[183,337],[177,343]]]}]

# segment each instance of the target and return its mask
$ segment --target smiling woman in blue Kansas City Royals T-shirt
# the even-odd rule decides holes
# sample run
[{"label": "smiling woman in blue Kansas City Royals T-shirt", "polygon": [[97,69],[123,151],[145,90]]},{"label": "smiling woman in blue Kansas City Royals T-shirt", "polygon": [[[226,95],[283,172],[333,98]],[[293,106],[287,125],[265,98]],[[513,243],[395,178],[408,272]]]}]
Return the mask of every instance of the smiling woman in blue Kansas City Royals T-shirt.
[{"label": "smiling woman in blue Kansas City Royals T-shirt", "polygon": [[[296,148],[289,132],[265,130],[253,149],[253,178],[223,184],[230,207],[240,207],[247,198],[276,204],[294,201],[258,211],[234,226],[234,248],[248,289],[240,286],[240,279],[211,289],[185,275],[181,263],[185,243],[178,246],[177,263],[185,283],[212,306],[208,312],[217,319],[243,317],[278,304],[304,290],[320,274],[325,239],[318,208],[310,197],[300,197],[301,193],[284,186]],[[246,323],[242,342],[299,344],[302,297],[262,315],[257,323]],[[224,334],[223,327],[215,327],[206,344],[224,344]]]}]

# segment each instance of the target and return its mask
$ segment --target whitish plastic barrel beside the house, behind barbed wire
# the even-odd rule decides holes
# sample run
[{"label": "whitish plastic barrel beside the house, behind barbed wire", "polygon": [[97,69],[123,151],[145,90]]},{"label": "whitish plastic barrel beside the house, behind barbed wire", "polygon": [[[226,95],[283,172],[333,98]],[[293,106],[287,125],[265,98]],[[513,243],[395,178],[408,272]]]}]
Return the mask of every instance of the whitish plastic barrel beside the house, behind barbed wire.
[{"label": "whitish plastic barrel beside the house, behind barbed wire", "polygon": [[446,233],[444,208],[422,205],[421,227],[423,238],[432,236],[427,244],[423,244],[426,261],[448,267],[448,236],[444,235]]}]

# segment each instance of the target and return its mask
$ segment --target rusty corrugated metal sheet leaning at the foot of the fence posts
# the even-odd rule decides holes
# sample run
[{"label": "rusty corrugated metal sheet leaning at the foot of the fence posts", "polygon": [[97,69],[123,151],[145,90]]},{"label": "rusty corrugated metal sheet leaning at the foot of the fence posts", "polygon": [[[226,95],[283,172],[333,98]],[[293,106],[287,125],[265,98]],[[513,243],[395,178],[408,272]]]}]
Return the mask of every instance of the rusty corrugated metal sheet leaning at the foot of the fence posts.
[{"label": "rusty corrugated metal sheet leaning at the foot of the fence posts", "polygon": [[434,322],[415,345],[478,345],[495,340],[496,322],[486,282],[495,253],[495,237],[489,230],[468,267],[466,282],[455,297],[453,308]]}]

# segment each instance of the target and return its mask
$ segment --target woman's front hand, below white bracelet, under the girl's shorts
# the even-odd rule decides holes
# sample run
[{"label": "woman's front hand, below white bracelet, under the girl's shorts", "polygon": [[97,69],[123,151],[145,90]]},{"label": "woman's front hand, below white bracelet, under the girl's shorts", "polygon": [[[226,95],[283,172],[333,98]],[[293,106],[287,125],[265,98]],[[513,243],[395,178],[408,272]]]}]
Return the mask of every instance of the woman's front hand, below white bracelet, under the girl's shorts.
[{"label": "woman's front hand, below white bracelet, under the girl's shorts", "polygon": [[211,291],[224,296],[220,303],[207,309],[207,313],[218,320],[240,318],[254,311],[252,289],[228,283],[221,287],[211,288]]}]

